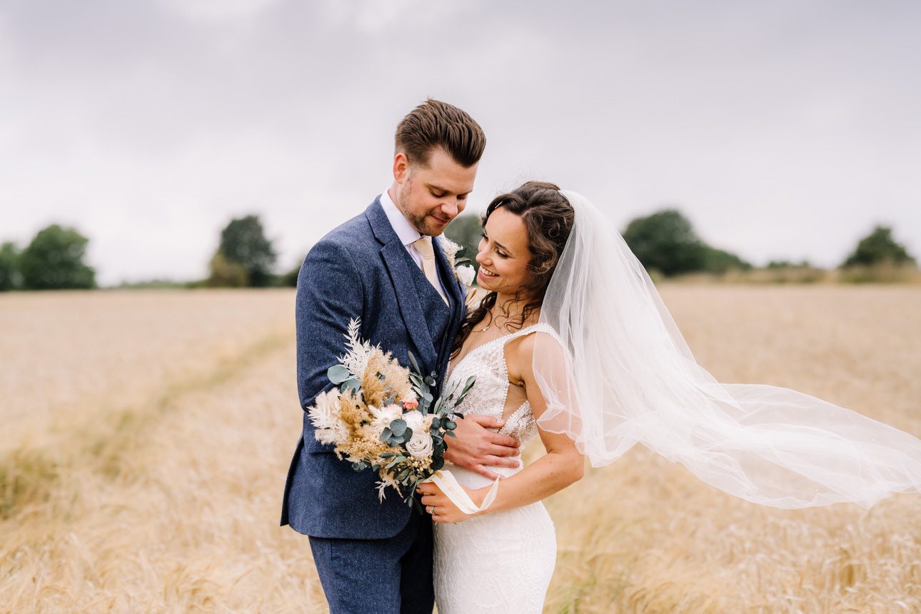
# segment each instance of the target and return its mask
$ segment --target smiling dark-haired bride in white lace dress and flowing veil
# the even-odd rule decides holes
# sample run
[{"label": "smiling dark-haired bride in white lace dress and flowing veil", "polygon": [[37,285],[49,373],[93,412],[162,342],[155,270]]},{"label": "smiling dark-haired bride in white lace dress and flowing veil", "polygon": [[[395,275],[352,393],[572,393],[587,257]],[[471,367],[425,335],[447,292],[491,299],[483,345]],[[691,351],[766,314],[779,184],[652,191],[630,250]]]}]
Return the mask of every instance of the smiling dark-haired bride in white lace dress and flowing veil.
[{"label": "smiling dark-haired bride in white lace dress and flowing veil", "polygon": [[[541,500],[642,443],[700,480],[793,509],[921,491],[921,441],[810,395],[720,384],[684,342],[623,237],[587,199],[529,181],[489,204],[447,382],[476,376],[459,411],[506,420],[502,433],[546,454],[500,469],[495,500],[467,515],[434,483],[440,614],[540,612],[554,571]],[[491,483],[451,472],[484,507]]]}]

